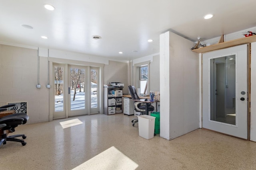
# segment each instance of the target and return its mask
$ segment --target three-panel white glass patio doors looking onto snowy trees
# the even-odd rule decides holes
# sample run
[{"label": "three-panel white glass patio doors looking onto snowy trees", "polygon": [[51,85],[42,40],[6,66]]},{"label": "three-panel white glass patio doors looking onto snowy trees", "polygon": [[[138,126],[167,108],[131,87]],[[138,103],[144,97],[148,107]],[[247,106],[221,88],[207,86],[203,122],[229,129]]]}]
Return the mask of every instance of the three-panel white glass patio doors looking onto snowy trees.
[{"label": "three-panel white glass patio doors looking onto snowy trees", "polygon": [[53,64],[53,119],[98,113],[98,68]]}]

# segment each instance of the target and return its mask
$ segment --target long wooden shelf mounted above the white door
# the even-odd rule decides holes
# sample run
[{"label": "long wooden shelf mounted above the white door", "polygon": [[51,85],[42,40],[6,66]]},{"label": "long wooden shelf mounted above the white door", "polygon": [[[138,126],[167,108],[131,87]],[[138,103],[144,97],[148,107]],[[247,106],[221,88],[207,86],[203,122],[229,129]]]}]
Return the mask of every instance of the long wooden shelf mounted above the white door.
[{"label": "long wooden shelf mounted above the white door", "polygon": [[244,37],[244,38],[240,38],[240,39],[234,39],[234,40],[231,40],[231,41],[226,41],[226,42],[223,42],[223,43],[209,45],[209,46],[206,46],[206,47],[193,49],[192,51],[194,51],[196,53],[206,53],[206,52],[209,52],[209,51],[214,51],[214,50],[218,50],[218,49],[225,49],[225,48],[228,48],[228,47],[234,47],[236,45],[248,44],[248,43],[253,43],[253,42],[256,42],[256,35],[251,35],[249,37]]}]

